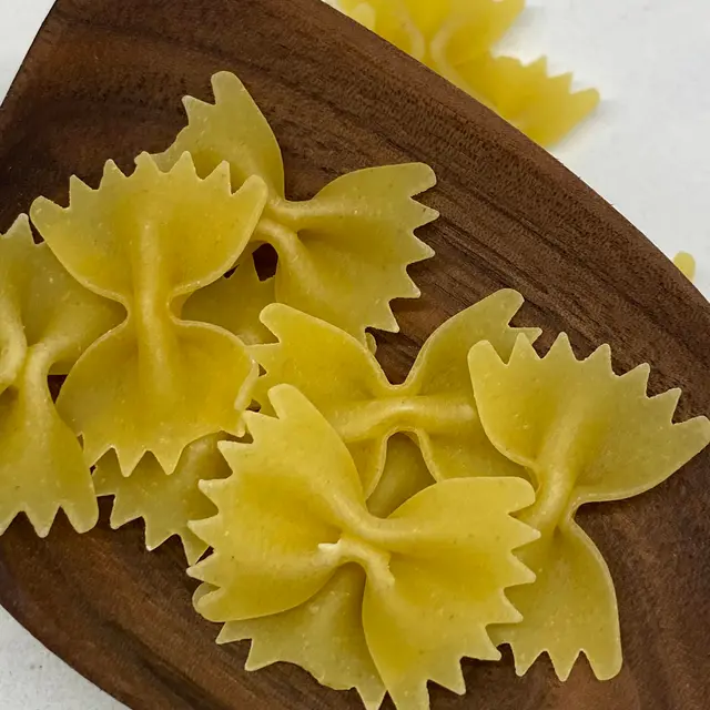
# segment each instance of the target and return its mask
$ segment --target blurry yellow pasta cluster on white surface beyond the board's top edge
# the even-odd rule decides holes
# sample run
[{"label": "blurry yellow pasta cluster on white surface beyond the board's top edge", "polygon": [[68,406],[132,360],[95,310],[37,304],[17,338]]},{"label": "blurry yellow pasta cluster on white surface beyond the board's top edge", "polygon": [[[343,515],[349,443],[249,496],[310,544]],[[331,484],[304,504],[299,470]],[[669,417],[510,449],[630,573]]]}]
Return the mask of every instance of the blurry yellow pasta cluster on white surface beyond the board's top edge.
[{"label": "blurry yellow pasta cluster on white surface beyond the board's top edge", "polygon": [[571,91],[571,74],[550,77],[545,58],[525,65],[491,53],[525,0],[339,0],[338,7],[541,145],[561,139],[599,103],[594,89]]}]

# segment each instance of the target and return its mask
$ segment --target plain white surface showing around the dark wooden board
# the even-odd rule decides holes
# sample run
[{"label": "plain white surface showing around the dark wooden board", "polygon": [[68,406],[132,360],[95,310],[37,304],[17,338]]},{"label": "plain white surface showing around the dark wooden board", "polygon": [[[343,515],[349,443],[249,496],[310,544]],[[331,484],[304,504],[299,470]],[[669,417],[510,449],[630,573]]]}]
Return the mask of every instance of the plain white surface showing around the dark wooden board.
[{"label": "plain white surface showing around the dark wooden board", "polygon": [[[434,0],[433,0],[434,1]],[[4,95],[51,0],[0,0]],[[663,252],[696,255],[710,294],[710,3],[528,0],[500,45],[602,93],[598,113],[556,154]],[[0,609],[2,710],[116,710]]]}]

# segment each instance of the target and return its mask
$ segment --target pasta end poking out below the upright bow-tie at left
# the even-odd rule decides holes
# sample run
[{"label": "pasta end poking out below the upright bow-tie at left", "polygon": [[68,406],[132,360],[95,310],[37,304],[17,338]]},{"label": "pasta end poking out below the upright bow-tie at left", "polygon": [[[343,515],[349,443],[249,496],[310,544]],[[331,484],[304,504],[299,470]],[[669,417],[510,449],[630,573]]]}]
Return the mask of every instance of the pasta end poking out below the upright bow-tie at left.
[{"label": "pasta end poking out below the upright bow-tie at left", "polygon": [[189,528],[190,520],[214,515],[214,505],[200,490],[201,480],[226,478],[230,468],[217,449],[220,435],[211,434],[190,444],[172,475],[165,474],[155,457],[144,456],[128,477],[110,452],[97,465],[93,483],[98,496],[113,496],[111,527],[142,518],[145,547],[154,550],[173,535],[180,537],[190,565],[207,546]]}]

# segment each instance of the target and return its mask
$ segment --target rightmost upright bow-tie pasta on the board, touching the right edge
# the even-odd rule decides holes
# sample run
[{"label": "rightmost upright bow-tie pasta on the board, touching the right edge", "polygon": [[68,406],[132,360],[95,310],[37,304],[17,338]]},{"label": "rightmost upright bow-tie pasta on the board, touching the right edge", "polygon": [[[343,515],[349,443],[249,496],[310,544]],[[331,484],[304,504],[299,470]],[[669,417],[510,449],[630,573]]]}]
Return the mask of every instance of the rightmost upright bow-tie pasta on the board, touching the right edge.
[{"label": "rightmost upright bow-tie pasta on the board, touching the right edge", "polygon": [[519,516],[541,532],[520,551],[537,581],[511,590],[524,620],[495,638],[511,646],[519,673],[547,651],[566,679],[584,652],[598,678],[611,678],[621,667],[613,584],[575,514],[660,484],[704,448],[710,422],[673,424],[679,390],[649,398],[647,366],[617,376],[608,347],[580,362],[566,336],[544,358],[520,338],[508,364],[486,343],[469,362],[486,433],[537,484]]}]

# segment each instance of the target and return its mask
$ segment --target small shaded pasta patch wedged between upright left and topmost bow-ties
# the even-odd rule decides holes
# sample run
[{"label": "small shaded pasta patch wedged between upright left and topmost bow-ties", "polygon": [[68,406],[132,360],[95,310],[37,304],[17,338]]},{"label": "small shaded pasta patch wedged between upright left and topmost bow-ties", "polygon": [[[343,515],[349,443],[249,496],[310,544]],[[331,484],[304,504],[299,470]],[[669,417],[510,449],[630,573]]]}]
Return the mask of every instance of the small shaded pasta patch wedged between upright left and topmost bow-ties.
[{"label": "small shaded pasta patch wedged between upright left and topmost bow-ties", "polygon": [[190,296],[182,316],[185,321],[212,323],[233,333],[245,345],[256,345],[273,341],[258,316],[275,300],[274,278],[261,281],[253,255],[246,254],[240,258],[233,274]]}]

